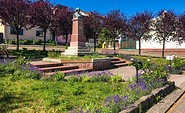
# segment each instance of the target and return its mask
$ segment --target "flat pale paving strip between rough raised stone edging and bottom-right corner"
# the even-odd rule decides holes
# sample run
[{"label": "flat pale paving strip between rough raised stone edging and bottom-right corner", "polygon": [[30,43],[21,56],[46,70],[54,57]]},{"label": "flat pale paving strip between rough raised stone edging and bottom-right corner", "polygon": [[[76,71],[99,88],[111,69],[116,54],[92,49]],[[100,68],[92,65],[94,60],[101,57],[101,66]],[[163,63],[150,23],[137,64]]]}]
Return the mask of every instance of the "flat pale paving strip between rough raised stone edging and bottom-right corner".
[{"label": "flat pale paving strip between rough raised stone edging and bottom-right corner", "polygon": [[147,111],[147,113],[166,113],[185,93],[185,82],[171,94],[162,99],[159,103]]}]

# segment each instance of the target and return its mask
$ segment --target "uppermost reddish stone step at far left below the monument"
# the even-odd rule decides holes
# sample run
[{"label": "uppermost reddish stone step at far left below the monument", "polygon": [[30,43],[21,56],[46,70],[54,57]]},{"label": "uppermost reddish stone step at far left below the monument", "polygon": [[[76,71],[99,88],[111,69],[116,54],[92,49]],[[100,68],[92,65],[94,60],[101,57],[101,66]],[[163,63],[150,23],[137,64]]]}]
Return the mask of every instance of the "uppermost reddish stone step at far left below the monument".
[{"label": "uppermost reddish stone step at far left below the monument", "polygon": [[56,66],[63,66],[62,63],[57,62],[42,62],[42,61],[34,61],[30,62],[31,65],[38,67],[38,68],[46,68],[46,67],[56,67]]}]

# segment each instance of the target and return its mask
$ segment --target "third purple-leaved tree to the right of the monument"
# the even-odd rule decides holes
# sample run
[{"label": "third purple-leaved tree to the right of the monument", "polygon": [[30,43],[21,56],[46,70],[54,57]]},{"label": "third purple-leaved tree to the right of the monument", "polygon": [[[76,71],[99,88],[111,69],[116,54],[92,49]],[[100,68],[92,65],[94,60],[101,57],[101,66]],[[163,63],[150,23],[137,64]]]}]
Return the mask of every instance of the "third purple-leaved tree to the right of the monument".
[{"label": "third purple-leaved tree to the right of the monument", "polygon": [[150,20],[152,13],[142,12],[137,13],[130,20],[130,33],[129,35],[139,41],[139,55],[141,54],[141,39],[147,40],[150,38]]}]

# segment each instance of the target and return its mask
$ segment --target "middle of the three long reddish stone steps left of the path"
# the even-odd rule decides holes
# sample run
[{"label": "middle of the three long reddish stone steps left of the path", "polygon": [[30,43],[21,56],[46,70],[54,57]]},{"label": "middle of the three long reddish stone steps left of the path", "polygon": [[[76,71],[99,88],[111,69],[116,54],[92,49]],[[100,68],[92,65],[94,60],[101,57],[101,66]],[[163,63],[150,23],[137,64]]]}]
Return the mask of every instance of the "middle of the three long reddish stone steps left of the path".
[{"label": "middle of the three long reddish stone steps left of the path", "polygon": [[54,72],[54,71],[63,71],[63,70],[70,70],[70,69],[78,69],[78,66],[56,66],[56,67],[46,67],[40,68],[40,71],[44,72]]}]

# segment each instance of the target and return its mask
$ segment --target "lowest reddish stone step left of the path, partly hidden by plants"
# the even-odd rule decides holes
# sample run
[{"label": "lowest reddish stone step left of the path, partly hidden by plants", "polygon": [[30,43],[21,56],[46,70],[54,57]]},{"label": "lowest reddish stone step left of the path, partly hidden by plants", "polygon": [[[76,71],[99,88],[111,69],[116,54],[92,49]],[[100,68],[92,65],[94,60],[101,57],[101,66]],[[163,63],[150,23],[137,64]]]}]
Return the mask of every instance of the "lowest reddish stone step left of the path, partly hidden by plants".
[{"label": "lowest reddish stone step left of the path, partly hidden by plants", "polygon": [[[79,69],[72,69],[72,70],[64,70],[64,71],[60,71],[62,73],[64,73],[65,75],[67,74],[76,74],[76,73],[80,73],[80,72],[85,72],[85,71],[92,71],[92,68],[79,68]],[[51,76],[54,75],[56,72],[48,72],[45,73],[46,76]]]}]

